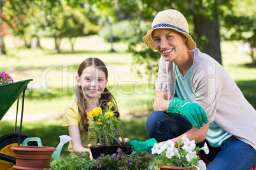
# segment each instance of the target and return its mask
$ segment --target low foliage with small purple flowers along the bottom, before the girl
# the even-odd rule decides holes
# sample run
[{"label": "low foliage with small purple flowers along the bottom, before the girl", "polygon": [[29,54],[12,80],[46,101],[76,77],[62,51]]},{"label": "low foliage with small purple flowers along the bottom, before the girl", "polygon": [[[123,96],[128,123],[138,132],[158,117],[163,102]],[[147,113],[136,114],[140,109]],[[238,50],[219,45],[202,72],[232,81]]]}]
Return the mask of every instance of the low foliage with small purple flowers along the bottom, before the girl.
[{"label": "low foliage with small purple flowers along the bottom, before the girl", "polygon": [[[52,161],[51,170],[82,170],[82,169],[150,169],[152,162],[152,154],[148,152],[134,152],[127,155],[120,148],[117,148],[117,153],[101,154],[97,159],[90,159],[89,152],[78,153],[78,157],[73,157],[72,154],[66,159]],[[46,169],[45,169],[46,170]]]}]

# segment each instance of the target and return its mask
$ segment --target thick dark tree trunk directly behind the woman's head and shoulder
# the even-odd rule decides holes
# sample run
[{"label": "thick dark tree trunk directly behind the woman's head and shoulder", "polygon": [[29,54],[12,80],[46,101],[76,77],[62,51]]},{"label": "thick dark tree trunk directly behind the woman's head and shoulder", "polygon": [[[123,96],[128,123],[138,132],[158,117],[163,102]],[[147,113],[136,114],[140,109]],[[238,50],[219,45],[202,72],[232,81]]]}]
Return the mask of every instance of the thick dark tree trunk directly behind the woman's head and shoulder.
[{"label": "thick dark tree trunk directly behind the woman's head and shoulder", "polygon": [[222,65],[218,18],[210,20],[206,16],[194,15],[194,26],[195,36],[199,39],[205,39],[204,42],[197,43],[200,51],[210,55]]}]

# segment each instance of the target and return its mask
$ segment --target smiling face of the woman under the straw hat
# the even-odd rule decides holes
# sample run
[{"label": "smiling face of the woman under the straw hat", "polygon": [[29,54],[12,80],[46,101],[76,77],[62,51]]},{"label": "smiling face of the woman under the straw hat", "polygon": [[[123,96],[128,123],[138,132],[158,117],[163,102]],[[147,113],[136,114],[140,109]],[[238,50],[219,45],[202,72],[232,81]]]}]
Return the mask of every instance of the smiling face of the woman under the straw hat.
[{"label": "smiling face of the woman under the straw hat", "polygon": [[187,51],[187,37],[172,29],[155,29],[153,41],[160,55],[166,61],[174,61],[181,53]]}]

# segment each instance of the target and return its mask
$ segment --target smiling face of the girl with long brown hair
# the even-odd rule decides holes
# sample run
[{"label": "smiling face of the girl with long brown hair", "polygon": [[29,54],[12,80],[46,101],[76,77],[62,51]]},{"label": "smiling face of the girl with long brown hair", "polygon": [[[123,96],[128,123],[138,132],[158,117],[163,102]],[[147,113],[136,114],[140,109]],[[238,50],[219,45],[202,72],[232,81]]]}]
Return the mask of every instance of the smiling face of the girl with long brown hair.
[{"label": "smiling face of the girl with long brown hair", "polygon": [[78,86],[81,86],[85,97],[99,98],[106,88],[108,79],[102,70],[91,65],[83,70],[80,77],[76,76],[76,82]]}]

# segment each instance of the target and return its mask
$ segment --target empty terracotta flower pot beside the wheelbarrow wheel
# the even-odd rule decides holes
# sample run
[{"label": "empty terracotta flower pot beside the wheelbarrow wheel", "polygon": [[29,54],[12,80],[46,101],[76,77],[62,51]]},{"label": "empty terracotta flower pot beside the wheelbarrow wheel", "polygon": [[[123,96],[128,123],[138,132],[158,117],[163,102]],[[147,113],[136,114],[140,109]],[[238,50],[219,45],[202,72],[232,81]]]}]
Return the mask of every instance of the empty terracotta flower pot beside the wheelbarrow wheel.
[{"label": "empty terracotta flower pot beside the wheelbarrow wheel", "polygon": [[45,169],[50,168],[50,159],[56,148],[36,146],[11,147],[16,159],[15,169]]}]

